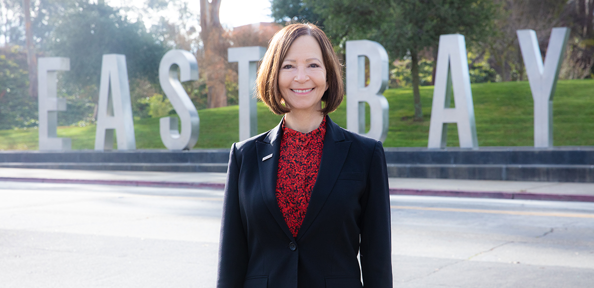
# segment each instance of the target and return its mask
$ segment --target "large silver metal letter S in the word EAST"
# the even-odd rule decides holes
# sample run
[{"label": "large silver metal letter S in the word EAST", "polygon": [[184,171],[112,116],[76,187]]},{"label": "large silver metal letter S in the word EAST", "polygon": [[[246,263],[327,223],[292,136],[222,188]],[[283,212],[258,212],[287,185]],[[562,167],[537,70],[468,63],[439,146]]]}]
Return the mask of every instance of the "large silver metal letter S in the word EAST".
[{"label": "large silver metal letter S in the word EAST", "polygon": [[[173,65],[179,67],[179,79],[178,69],[173,68]],[[165,53],[159,64],[159,83],[173,109],[178,113],[182,126],[179,132],[178,119],[159,119],[161,141],[170,150],[190,150],[198,141],[198,111],[181,84],[191,80],[198,80],[198,62],[194,55],[185,50],[170,50]]]}]

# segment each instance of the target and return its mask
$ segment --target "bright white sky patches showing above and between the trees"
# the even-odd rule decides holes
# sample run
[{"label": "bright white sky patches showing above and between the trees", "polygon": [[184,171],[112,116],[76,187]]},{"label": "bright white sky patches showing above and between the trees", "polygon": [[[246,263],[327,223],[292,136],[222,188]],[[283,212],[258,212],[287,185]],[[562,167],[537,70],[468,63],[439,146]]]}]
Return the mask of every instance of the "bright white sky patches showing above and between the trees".
[{"label": "bright white sky patches showing above and between the trees", "polygon": [[[146,0],[106,0],[113,7],[142,6]],[[186,0],[191,11],[200,15],[200,1]],[[166,18],[173,17],[174,12],[164,12]],[[270,17],[270,0],[221,0],[220,14],[223,27],[233,28],[258,22],[272,22]],[[157,17],[158,18],[158,17]],[[144,19],[145,24],[149,22]]]}]

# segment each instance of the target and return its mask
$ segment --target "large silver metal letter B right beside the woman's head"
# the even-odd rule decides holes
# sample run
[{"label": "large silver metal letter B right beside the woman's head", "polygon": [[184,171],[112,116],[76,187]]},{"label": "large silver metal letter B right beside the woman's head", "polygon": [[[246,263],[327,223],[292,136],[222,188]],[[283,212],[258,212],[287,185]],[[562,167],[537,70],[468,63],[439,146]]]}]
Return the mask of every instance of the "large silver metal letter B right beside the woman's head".
[{"label": "large silver metal letter B right beside the woman's head", "polygon": [[[369,84],[365,86],[365,57],[369,59]],[[376,140],[388,134],[388,53],[380,43],[369,40],[346,42],[346,128]],[[370,126],[365,133],[365,102],[369,104]]]}]

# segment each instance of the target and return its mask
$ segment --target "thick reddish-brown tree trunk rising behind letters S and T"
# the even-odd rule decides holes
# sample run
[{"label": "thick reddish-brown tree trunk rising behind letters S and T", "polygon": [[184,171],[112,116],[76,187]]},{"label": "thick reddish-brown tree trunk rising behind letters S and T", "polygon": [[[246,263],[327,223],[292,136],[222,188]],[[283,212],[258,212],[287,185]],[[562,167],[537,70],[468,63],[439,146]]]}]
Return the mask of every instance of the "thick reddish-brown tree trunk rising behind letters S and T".
[{"label": "thick reddish-brown tree trunk rising behind letters S and T", "polygon": [[[200,0],[201,37],[204,44],[208,108],[227,106],[223,27],[219,19],[220,0]],[[225,50],[225,51],[223,51]]]}]

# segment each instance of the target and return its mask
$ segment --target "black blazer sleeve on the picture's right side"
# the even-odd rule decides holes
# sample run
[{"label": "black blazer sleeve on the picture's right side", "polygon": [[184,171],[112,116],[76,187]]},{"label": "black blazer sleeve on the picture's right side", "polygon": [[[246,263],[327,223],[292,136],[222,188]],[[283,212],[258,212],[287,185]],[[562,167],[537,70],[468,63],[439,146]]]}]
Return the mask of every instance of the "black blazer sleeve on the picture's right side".
[{"label": "black blazer sleeve on the picture's right side", "polygon": [[361,198],[361,272],[364,287],[392,287],[390,195],[384,147],[375,143]]}]

